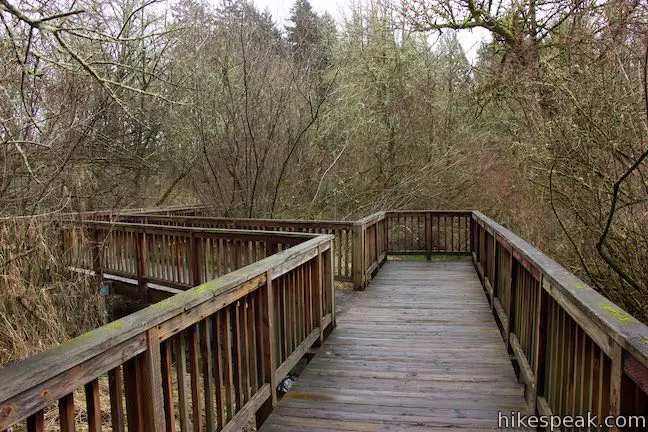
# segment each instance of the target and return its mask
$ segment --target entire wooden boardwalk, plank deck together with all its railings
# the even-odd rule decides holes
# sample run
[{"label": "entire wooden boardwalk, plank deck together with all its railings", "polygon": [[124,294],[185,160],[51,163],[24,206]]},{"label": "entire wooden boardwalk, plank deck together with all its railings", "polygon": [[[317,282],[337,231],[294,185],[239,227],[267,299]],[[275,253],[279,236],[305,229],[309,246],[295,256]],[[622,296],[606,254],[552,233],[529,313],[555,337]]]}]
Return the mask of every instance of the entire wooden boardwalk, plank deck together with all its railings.
[{"label": "entire wooden boardwalk, plank deck together with all its railings", "polygon": [[[206,211],[55,221],[70,269],[170,297],[0,368],[0,432],[480,431],[518,410],[648,423],[648,326],[478,211]],[[447,259],[388,259],[403,255]],[[339,314],[334,280],[356,290]],[[601,430],[646,431],[617,426]]]}]

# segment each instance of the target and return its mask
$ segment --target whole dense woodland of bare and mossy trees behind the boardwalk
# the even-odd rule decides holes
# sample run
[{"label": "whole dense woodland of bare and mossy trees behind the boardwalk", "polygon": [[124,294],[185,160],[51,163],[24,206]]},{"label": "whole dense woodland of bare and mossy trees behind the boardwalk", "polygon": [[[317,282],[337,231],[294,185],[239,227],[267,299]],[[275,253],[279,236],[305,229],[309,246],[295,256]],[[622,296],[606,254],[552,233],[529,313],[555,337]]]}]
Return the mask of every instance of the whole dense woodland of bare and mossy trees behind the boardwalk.
[{"label": "whole dense woodland of bare and mossy trees behind the boardwalk", "polygon": [[648,318],[646,2],[358,0],[336,22],[297,0],[282,28],[246,0],[0,0],[0,21],[0,216],[480,209]]}]

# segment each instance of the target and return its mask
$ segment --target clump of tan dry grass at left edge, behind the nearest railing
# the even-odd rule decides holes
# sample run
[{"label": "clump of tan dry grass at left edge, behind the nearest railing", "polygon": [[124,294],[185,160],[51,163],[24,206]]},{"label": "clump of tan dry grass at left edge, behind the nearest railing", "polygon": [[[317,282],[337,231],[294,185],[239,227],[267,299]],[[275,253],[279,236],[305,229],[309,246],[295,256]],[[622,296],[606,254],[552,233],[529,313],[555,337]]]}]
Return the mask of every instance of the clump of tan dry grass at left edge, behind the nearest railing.
[{"label": "clump of tan dry grass at left edge, behind the nearest railing", "polygon": [[67,270],[60,239],[51,221],[0,222],[0,366],[105,322],[96,281]]}]

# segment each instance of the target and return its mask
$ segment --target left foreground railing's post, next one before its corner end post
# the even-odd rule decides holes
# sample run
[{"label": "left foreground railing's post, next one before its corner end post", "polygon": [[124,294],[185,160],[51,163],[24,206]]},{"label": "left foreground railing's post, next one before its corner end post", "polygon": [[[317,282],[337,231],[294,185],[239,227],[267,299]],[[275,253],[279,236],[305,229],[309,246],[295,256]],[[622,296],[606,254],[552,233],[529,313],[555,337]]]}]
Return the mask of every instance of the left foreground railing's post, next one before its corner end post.
[{"label": "left foreground railing's post, next one before its corner end post", "polygon": [[256,412],[256,424],[260,427],[264,420],[270,415],[272,409],[277,406],[277,339],[275,335],[275,309],[274,291],[272,288],[272,272],[266,272],[266,286],[261,291],[262,295],[262,322],[263,322],[263,376],[265,382],[270,384],[270,397],[259,407]]}]

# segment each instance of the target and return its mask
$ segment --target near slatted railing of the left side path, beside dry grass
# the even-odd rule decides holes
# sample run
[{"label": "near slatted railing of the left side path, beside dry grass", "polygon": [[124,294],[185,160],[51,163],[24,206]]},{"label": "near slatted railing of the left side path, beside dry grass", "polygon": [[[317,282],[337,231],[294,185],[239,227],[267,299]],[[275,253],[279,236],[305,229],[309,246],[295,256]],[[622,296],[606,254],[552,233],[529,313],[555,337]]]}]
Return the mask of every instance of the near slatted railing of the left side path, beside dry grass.
[{"label": "near slatted railing of the left side path, beside dry grass", "polygon": [[175,294],[315,237],[98,221],[62,228],[64,250],[80,258],[72,266],[131,279],[145,298],[150,284]]}]

